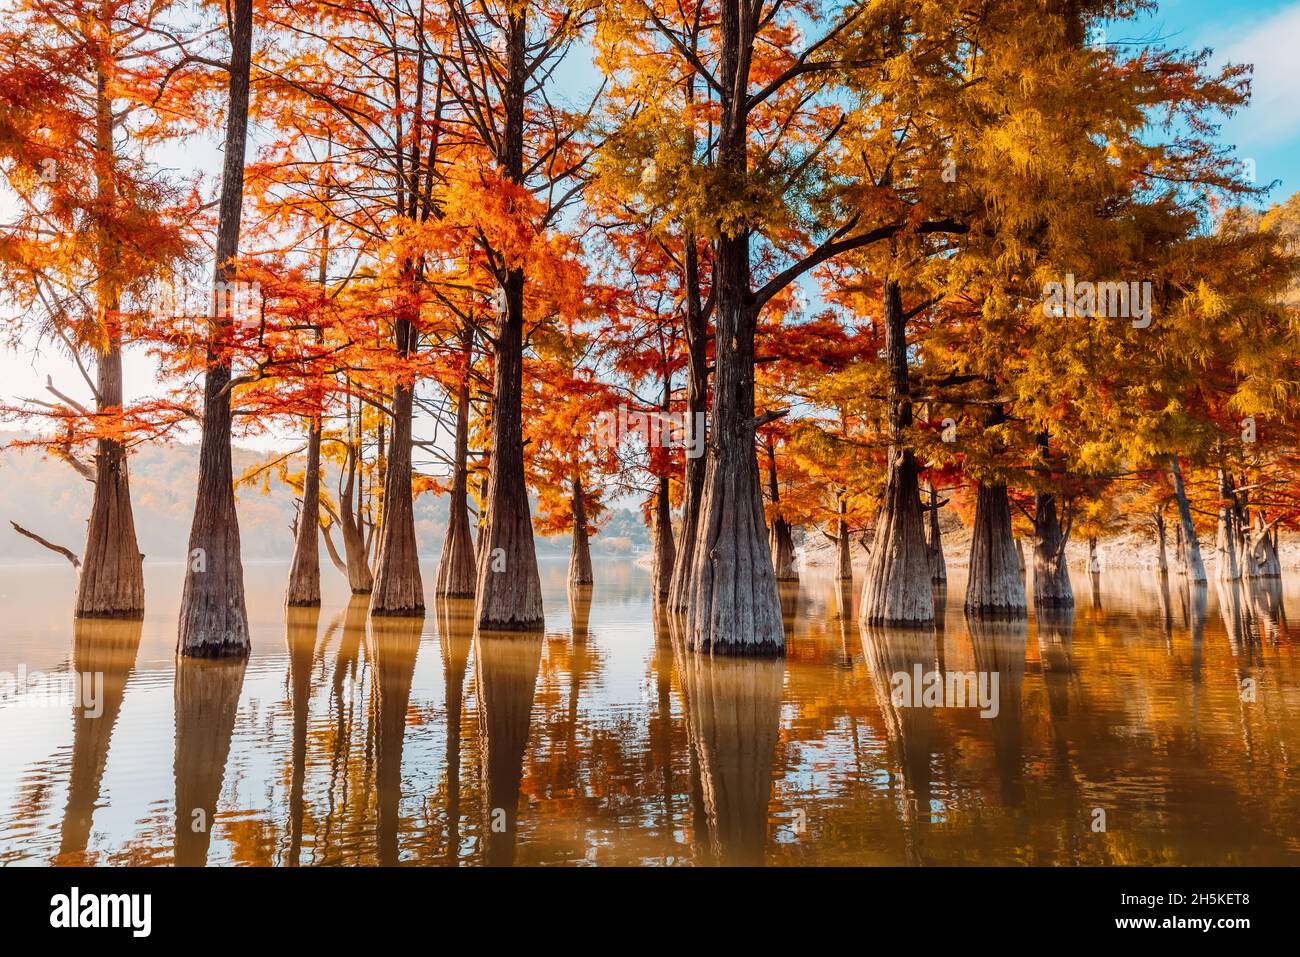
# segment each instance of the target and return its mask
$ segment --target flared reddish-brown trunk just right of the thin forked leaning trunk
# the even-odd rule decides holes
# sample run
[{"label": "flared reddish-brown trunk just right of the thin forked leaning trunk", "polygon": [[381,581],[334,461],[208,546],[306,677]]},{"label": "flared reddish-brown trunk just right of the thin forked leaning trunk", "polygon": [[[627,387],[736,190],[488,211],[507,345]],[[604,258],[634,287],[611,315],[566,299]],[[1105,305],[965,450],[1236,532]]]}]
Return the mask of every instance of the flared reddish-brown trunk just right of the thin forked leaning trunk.
[{"label": "flared reddish-brown trunk just right of the thin forked leaning trunk", "polygon": [[[396,320],[398,352],[416,351],[417,333],[407,315]],[[374,562],[372,615],[421,618],[424,581],[415,540],[415,501],[411,486],[411,416],[415,382],[398,380],[393,390],[393,426],[387,465],[384,475],[384,519],[380,525],[380,554]]]}]

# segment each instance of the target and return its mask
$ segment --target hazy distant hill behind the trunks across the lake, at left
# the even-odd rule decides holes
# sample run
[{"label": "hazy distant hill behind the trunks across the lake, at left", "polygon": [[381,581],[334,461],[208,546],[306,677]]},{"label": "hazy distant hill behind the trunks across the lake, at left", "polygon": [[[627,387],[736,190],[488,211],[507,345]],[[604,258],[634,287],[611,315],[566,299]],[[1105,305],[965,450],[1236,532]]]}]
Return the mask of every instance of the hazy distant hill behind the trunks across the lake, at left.
[{"label": "hazy distant hill behind the trunks across the lake, at left", "polygon": [[[16,433],[0,432],[0,445]],[[195,445],[157,445],[140,449],[130,459],[135,533],[147,560],[179,560],[186,554],[194,514],[194,480],[199,449]],[[234,471],[274,458],[272,452],[234,450]],[[326,476],[333,484],[337,476]],[[290,558],[294,550],[290,525],[294,494],[272,477],[270,490],[239,489],[239,540],[244,559]],[[62,562],[9,527],[23,528],[75,553],[84,547],[91,486],[69,465],[35,451],[0,451],[0,563]],[[420,495],[415,508],[420,551],[437,555],[447,525],[445,495]],[[335,534],[334,544],[342,547]],[[634,554],[650,547],[649,532],[638,514],[616,508],[601,533],[592,540],[595,551]],[[537,538],[540,554],[564,554],[568,537]],[[328,563],[324,546],[321,560]]]}]

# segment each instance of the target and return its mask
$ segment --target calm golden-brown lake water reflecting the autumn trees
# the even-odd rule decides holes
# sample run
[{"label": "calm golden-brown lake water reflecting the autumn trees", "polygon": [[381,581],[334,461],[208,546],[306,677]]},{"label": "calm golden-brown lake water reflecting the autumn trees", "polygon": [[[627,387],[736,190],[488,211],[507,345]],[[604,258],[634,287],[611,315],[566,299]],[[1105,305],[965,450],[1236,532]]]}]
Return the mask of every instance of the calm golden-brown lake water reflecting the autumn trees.
[{"label": "calm golden-brown lake water reflecting the autumn trees", "polygon": [[[0,863],[1300,862],[1300,576],[1076,572],[1071,618],[971,625],[954,570],[928,635],[810,576],[768,662],[675,654],[630,562],[586,607],[543,562],[534,638],[368,622],[329,568],[286,620],[286,572],[246,567],[247,664],[178,667],[179,566],[75,624],[69,568],[0,568],[0,671],[103,675],[99,716],[0,701]],[[996,674],[996,716],[894,706],[916,666]]]}]

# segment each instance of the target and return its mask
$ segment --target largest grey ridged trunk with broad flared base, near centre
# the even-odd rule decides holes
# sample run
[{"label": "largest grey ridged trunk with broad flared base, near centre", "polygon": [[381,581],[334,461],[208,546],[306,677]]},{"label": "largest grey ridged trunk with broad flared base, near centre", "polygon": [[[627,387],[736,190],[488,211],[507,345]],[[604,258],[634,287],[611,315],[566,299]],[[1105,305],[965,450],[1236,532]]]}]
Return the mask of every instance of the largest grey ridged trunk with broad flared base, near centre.
[{"label": "largest grey ridged trunk with broad flared base, near centre", "polygon": [[[740,148],[744,151],[744,142]],[[749,234],[723,235],[716,248],[714,428],[693,555],[686,640],[696,651],[783,654],[781,601],[754,456],[758,316],[748,302]]]}]

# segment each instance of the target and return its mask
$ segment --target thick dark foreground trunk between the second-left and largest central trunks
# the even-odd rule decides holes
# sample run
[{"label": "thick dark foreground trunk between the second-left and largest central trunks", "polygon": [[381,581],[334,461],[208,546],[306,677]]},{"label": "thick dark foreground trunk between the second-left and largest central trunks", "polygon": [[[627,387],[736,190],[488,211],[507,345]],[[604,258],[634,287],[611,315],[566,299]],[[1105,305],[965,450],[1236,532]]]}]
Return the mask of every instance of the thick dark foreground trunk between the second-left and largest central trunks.
[{"label": "thick dark foreground trunk between the second-left and largest central trunks", "polygon": [[[525,17],[524,8],[512,13],[506,31],[506,129],[500,163],[514,183],[524,181]],[[488,524],[480,537],[478,555],[478,627],[540,631],[545,624],[542,584],[524,481],[524,270],[507,269],[503,278],[506,308],[497,317]]]}]

